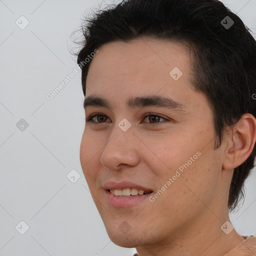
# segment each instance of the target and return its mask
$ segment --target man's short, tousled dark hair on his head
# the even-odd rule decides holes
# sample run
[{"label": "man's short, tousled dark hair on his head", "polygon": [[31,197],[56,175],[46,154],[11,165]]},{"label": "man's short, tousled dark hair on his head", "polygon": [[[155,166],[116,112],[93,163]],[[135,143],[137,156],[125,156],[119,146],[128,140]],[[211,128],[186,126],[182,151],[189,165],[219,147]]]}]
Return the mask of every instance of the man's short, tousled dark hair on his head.
[{"label": "man's short, tousled dark hair on his head", "polygon": [[[151,37],[180,42],[192,52],[191,82],[212,109],[214,149],[221,145],[225,126],[234,125],[244,113],[256,116],[256,42],[242,20],[218,0],[123,0],[86,18],[81,29],[76,55],[84,96],[90,63],[81,63],[88,54],[107,42]],[[230,211],[244,197],[244,180],[254,167],[255,154],[254,145],[249,157],[234,168]]]}]

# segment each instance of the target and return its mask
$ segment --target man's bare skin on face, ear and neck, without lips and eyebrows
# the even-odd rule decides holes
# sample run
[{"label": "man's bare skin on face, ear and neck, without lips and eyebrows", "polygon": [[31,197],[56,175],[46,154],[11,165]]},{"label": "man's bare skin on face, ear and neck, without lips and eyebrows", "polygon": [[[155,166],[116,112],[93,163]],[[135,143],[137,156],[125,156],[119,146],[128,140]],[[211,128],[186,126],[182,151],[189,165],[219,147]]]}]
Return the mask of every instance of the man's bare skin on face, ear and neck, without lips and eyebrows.
[{"label": "man's bare skin on face, ear and neck, without lips and eyebrows", "polygon": [[[104,97],[113,109],[85,109],[87,118],[93,113],[106,118],[86,123],[80,161],[109,237],[119,246],[136,247],[139,256],[224,255],[244,240],[234,229],[225,234],[220,227],[230,221],[233,168],[252,151],[255,118],[245,114],[226,129],[221,147],[214,150],[212,111],[205,95],[193,90],[189,53],[182,45],[140,38],[109,42],[98,50],[89,67],[86,97]],[[183,72],[176,81],[169,75],[175,66]],[[167,95],[184,111],[126,107],[127,98],[145,95]],[[143,118],[149,112],[169,121]],[[125,132],[117,125],[123,118],[131,123]],[[106,180],[129,180],[158,191],[197,151],[200,156],[154,202],[120,208],[105,199]],[[126,233],[118,228],[123,221],[130,226]]]}]

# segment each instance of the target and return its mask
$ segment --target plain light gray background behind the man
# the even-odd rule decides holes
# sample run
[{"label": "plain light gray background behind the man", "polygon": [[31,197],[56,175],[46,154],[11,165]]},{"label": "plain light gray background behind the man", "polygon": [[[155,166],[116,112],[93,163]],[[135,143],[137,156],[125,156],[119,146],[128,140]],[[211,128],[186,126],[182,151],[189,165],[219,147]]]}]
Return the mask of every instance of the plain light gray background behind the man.
[{"label": "plain light gray background behind the man", "polygon": [[[223,2],[255,32],[256,0]],[[71,32],[79,28],[83,12],[100,3],[112,1],[0,0],[2,256],[128,256],[134,251],[110,241],[81,170],[80,72],[53,99],[46,98],[76,66],[68,50]],[[24,29],[15,24],[21,15],[29,21]],[[16,127],[21,118],[29,124],[23,131]],[[80,174],[74,183],[66,177],[72,169]],[[256,235],[255,181],[253,169],[244,204],[230,216],[242,235]],[[24,228],[21,220],[29,226],[24,234],[15,228]]]}]

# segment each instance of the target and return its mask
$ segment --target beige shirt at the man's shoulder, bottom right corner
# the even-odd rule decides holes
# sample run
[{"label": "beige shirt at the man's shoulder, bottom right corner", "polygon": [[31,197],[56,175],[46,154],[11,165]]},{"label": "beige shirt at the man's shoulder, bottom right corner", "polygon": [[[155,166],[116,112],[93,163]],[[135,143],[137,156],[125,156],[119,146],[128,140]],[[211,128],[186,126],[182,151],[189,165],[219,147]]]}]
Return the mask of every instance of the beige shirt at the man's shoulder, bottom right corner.
[{"label": "beige shirt at the man's shoulder, bottom right corner", "polygon": [[[236,247],[227,252],[224,256],[256,256],[256,238],[254,236],[243,236],[243,240]],[[138,256],[135,253],[133,256]]]}]

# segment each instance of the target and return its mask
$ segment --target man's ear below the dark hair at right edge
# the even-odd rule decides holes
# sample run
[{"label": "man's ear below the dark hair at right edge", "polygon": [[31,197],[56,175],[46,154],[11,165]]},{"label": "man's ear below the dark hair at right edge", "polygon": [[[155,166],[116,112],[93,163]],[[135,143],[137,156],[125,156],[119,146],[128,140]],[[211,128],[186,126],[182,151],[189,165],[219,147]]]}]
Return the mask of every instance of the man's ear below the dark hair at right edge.
[{"label": "man's ear below the dark hair at right edge", "polygon": [[256,119],[246,113],[230,130],[222,169],[233,169],[250,155],[256,141]]}]

